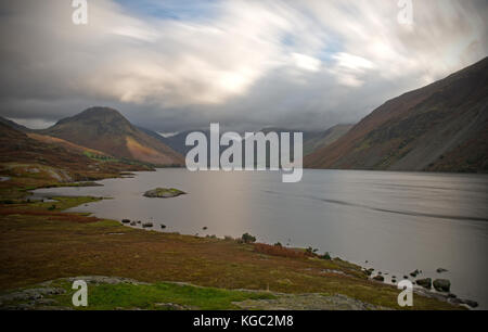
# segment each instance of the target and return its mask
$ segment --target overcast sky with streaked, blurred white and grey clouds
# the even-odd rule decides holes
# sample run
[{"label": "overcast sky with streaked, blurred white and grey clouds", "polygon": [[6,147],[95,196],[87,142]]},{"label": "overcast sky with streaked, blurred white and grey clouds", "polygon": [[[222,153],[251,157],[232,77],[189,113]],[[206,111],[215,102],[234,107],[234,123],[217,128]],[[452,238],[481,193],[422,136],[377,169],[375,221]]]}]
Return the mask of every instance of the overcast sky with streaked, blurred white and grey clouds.
[{"label": "overcast sky with streaked, blurred white and grey clouds", "polygon": [[488,55],[486,0],[87,3],[75,25],[70,0],[0,2],[1,116],[43,128],[110,106],[158,132],[325,130]]}]

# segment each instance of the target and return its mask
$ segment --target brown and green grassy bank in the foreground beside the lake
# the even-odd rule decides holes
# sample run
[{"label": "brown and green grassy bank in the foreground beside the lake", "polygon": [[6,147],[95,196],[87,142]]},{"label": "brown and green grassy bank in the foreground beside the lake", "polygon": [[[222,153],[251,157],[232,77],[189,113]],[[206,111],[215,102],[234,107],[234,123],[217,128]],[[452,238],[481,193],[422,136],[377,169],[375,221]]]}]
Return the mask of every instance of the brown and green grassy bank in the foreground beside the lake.
[{"label": "brown and green grassy bank in the foreground beside the lake", "polygon": [[[272,296],[230,291],[244,289],[342,294],[374,306],[400,309],[396,288],[369,280],[359,266],[341,259],[290,254],[287,250],[273,251],[231,239],[133,229],[113,220],[63,212],[99,199],[55,200],[56,203],[0,204],[0,292],[61,278],[113,276],[151,284],[99,285],[90,292],[91,309],[153,309],[156,302],[232,309],[235,301]],[[165,282],[210,289],[176,289]],[[455,308],[434,298],[414,296],[413,309]]]}]

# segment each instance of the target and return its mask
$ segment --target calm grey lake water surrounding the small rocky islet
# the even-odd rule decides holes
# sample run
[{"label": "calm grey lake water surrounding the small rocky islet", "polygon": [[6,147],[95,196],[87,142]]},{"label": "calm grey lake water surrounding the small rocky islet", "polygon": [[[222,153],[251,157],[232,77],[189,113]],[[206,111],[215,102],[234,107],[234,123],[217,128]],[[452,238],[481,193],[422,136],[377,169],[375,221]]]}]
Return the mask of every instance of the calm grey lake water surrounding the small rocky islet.
[{"label": "calm grey lake water surrounding the small rocky islet", "polygon": [[[488,308],[487,176],[305,170],[301,182],[282,183],[280,173],[159,169],[100,183],[36,194],[110,196],[73,210],[152,221],[158,230],[164,224],[165,231],[185,234],[249,232],[260,242],[330,252],[388,272],[387,280],[420,269],[422,278],[450,279],[452,293]],[[156,187],[189,194],[142,196]]]}]

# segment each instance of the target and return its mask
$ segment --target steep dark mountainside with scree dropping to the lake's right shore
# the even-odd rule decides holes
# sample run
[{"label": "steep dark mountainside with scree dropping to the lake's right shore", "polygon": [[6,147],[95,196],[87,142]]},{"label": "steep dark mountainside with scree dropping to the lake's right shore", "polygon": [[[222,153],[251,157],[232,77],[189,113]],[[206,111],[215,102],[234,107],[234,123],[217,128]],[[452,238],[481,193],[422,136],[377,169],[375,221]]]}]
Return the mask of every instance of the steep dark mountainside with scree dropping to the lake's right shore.
[{"label": "steep dark mountainside with scree dropping to the lake's right shore", "polygon": [[395,98],[305,167],[488,171],[488,58]]}]

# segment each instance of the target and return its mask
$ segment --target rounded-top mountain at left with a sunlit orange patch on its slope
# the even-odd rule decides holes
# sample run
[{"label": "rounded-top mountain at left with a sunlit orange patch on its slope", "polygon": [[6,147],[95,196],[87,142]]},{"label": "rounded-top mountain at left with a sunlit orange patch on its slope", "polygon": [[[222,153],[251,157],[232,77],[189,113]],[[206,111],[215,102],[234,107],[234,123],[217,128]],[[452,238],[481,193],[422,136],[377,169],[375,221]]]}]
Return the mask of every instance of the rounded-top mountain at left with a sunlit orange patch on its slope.
[{"label": "rounded-top mountain at left with a sunlit orange patch on its slope", "polygon": [[107,107],[88,108],[38,133],[101,151],[117,158],[160,166],[183,165],[183,157],[179,153],[134,127],[118,111]]}]

